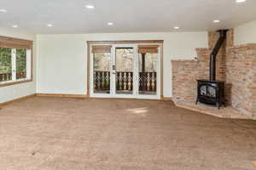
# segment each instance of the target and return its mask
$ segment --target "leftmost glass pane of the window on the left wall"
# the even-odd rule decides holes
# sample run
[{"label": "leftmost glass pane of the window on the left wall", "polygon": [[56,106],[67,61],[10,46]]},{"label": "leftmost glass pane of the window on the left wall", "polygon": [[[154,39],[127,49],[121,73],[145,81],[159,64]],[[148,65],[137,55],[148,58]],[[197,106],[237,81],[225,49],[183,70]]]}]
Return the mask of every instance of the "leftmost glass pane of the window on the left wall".
[{"label": "leftmost glass pane of the window on the left wall", "polygon": [[12,80],[12,49],[0,48],[0,82]]}]

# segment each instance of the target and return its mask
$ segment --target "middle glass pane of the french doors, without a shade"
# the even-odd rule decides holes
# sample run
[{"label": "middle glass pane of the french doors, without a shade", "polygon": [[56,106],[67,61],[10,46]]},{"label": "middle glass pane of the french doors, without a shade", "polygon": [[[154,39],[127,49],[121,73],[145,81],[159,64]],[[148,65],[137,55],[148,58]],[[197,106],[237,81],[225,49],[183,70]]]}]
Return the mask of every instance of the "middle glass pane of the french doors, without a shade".
[{"label": "middle glass pane of the french doors, without a shade", "polygon": [[115,49],[116,94],[132,94],[133,48]]}]

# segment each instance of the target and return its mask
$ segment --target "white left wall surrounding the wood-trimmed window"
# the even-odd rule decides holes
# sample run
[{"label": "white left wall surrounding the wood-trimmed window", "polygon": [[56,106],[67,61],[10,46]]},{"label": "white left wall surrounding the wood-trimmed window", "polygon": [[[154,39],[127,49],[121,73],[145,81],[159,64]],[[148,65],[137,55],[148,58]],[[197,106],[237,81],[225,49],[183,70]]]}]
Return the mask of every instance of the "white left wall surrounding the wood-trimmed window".
[{"label": "white left wall surrounding the wood-trimmed window", "polygon": [[14,29],[6,29],[6,28],[0,28],[0,36],[5,36],[5,37],[16,37],[16,38],[22,38],[22,39],[27,39],[27,40],[32,40],[34,41],[34,46],[33,46],[33,63],[34,63],[34,68],[33,68],[33,81],[32,82],[25,82],[25,83],[20,83],[8,87],[0,87],[0,103],[12,100],[12,99],[18,99],[30,94],[35,94],[36,92],[36,76],[35,76],[35,71],[36,71],[36,36],[29,34],[29,33],[24,33],[21,31],[15,31]]}]

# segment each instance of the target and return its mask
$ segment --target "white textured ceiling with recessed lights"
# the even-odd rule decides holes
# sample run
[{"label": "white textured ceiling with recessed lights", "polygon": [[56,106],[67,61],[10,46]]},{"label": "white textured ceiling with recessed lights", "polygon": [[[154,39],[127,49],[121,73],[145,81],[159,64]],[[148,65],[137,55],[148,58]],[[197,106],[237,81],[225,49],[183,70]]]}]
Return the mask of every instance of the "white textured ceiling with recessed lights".
[{"label": "white textured ceiling with recessed lights", "polygon": [[0,0],[0,8],[8,10],[0,27],[33,33],[208,31],[256,20],[256,0]]}]

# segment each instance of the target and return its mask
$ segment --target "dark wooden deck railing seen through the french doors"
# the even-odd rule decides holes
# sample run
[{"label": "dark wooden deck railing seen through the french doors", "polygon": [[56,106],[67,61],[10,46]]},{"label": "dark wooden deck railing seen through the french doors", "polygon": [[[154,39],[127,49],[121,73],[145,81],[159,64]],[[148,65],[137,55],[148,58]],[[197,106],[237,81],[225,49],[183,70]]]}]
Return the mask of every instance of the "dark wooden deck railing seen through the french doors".
[{"label": "dark wooden deck railing seen through the french doors", "polygon": [[[156,92],[156,72],[139,72],[139,91]],[[110,89],[110,72],[95,71],[94,72],[94,88],[95,90]],[[133,72],[116,71],[116,90],[133,89]]]}]

